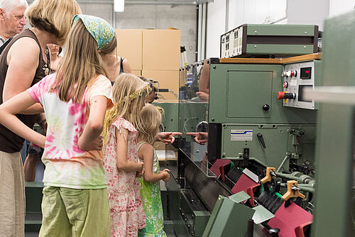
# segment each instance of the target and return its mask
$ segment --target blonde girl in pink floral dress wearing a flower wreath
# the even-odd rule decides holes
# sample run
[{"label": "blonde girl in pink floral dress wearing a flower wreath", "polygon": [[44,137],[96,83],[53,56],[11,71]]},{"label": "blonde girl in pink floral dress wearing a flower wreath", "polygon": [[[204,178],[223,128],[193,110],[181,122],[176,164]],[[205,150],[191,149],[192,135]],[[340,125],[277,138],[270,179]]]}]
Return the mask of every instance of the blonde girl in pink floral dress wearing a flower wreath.
[{"label": "blonde girl in pink floral dress wearing a flower wreath", "polygon": [[137,175],[143,173],[138,160],[136,128],[141,129],[139,112],[150,92],[148,83],[123,73],[113,88],[114,107],[104,124],[104,162],[111,208],[111,236],[138,236],[146,227]]}]

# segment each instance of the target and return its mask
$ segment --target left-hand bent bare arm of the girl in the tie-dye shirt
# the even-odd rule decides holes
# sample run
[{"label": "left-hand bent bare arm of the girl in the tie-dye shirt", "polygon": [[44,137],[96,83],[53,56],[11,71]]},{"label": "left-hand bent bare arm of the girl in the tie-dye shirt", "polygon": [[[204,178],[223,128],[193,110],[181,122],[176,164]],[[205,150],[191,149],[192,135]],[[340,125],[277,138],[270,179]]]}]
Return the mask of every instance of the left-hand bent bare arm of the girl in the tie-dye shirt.
[{"label": "left-hand bent bare arm of the girl in the tie-dye shirt", "polygon": [[18,136],[25,138],[26,140],[35,143],[36,145],[44,148],[45,146],[45,136],[37,133],[31,128],[28,128],[24,123],[22,123],[15,114],[19,114],[24,109],[35,104],[35,100],[32,99],[28,92],[21,92],[16,96],[12,97],[4,104],[0,105],[0,123],[9,128],[9,130],[16,133]]}]

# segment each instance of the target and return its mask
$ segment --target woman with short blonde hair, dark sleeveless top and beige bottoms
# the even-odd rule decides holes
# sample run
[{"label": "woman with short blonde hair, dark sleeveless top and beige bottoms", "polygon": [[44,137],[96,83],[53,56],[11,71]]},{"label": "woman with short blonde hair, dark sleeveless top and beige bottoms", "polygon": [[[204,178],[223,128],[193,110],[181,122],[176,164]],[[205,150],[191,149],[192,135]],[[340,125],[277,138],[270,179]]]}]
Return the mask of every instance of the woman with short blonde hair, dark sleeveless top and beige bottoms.
[{"label": "woman with short blonde hair, dark sleeveless top and beige bottoms", "polygon": [[[33,1],[25,12],[32,28],[13,38],[0,56],[0,104],[50,72],[45,45],[63,45],[77,13],[81,10],[75,0]],[[40,112],[43,107],[34,104],[17,117],[31,128]],[[22,146],[23,138],[0,125],[0,235],[4,236],[24,235],[24,175],[19,153]]]}]

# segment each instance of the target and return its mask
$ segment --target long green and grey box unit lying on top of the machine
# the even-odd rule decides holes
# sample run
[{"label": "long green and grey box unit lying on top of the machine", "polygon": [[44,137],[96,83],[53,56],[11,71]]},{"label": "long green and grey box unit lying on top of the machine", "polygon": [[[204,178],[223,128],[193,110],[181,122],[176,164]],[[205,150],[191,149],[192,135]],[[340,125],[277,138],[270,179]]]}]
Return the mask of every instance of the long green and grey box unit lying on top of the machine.
[{"label": "long green and grey box unit lying on top of the machine", "polygon": [[318,52],[318,26],[244,24],[221,35],[220,57]]}]

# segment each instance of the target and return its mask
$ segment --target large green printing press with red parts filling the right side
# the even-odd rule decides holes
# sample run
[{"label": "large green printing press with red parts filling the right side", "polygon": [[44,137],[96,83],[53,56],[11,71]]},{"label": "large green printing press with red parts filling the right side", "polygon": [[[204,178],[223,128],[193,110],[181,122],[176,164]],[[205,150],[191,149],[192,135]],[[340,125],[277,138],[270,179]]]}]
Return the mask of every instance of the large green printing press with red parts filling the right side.
[{"label": "large green printing press with red parts filling the right side", "polygon": [[[172,171],[162,190],[165,229],[355,236],[354,103],[333,105],[317,92],[355,85],[346,40],[354,23],[355,13],[326,21],[322,60],[212,58],[180,68],[179,101],[155,102],[165,110],[164,130],[183,133],[174,143],[178,161],[165,164]],[[206,79],[209,94],[199,97]],[[27,230],[40,226],[40,190],[26,183]]]}]

